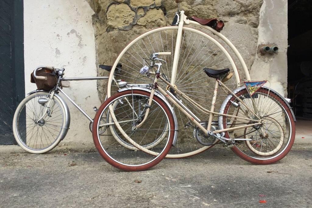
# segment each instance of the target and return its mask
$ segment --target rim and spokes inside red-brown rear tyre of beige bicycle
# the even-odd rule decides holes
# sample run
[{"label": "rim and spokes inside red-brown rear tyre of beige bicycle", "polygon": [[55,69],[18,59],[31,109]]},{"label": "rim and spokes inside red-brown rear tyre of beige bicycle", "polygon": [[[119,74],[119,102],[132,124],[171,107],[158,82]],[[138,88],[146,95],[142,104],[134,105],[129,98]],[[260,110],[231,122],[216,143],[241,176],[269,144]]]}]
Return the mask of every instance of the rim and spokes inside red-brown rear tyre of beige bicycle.
[{"label": "rim and spokes inside red-brown rear tyre of beige bicycle", "polygon": [[[247,90],[243,89],[236,94],[236,96],[241,95],[245,97],[248,96]],[[255,98],[255,96],[258,96],[258,98]],[[252,102],[255,102],[257,109],[260,109],[258,115],[265,120],[263,127],[261,127],[264,129],[265,136],[261,134],[263,133],[261,128],[258,130],[255,127],[249,127],[247,130],[246,128],[243,128],[232,132],[226,132],[225,137],[241,138],[244,136],[256,135],[256,137],[251,137],[252,140],[250,142],[248,141],[246,143],[236,144],[235,148],[242,155],[242,157],[249,157],[259,161],[271,160],[280,156],[290,144],[293,132],[288,113],[289,109],[285,108],[286,105],[284,104],[284,101],[282,101],[278,95],[269,92],[267,89],[261,89],[256,92],[253,97],[253,101],[250,96],[243,101],[250,107],[252,107]],[[230,100],[235,101],[236,99],[232,97]],[[244,109],[240,110],[242,112],[244,111]],[[234,107],[230,104],[229,100],[225,106],[224,113],[233,115],[237,114],[237,110],[234,110]],[[245,116],[243,113],[238,113],[237,115],[240,117]],[[223,120],[223,128],[229,128],[231,125],[233,126],[233,119],[229,119],[226,116],[222,116],[221,119]],[[238,119],[235,122],[246,123],[247,121],[244,119]],[[275,148],[273,148],[273,146]]]}]

